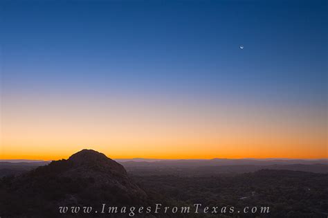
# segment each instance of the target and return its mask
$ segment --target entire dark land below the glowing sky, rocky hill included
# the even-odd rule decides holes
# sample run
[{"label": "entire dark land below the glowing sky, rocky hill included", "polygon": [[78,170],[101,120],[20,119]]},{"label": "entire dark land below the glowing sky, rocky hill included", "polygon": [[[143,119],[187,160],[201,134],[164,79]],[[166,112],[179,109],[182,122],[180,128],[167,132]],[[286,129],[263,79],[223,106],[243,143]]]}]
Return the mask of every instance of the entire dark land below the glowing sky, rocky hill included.
[{"label": "entire dark land below the glowing sky, rocky hill included", "polygon": [[[134,217],[328,216],[325,164],[123,165],[84,149],[67,160],[35,166],[33,170],[7,170],[0,179],[0,217],[129,217],[129,213],[100,213],[102,203],[119,208],[152,206],[151,212],[136,212]],[[162,208],[192,208],[197,203],[201,212],[195,214],[192,208],[190,213],[174,214],[170,209],[156,213],[156,203],[161,203]],[[60,214],[60,206],[92,206],[93,211]],[[270,208],[268,213],[242,212],[247,207],[250,211],[264,206]],[[203,212],[206,207],[210,208],[208,213]],[[217,213],[212,213],[213,207],[217,207]],[[229,209],[220,212],[231,207],[233,213]]]}]

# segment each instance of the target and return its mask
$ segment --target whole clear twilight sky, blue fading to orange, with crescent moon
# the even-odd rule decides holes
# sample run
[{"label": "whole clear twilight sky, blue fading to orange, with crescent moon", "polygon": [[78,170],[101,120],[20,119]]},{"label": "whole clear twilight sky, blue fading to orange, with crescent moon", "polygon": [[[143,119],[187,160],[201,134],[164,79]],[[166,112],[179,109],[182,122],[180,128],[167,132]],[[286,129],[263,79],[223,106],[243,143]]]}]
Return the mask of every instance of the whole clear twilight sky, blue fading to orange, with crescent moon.
[{"label": "whole clear twilight sky, blue fading to orange, with crescent moon", "polygon": [[327,15],[316,0],[1,1],[0,158],[327,158]]}]

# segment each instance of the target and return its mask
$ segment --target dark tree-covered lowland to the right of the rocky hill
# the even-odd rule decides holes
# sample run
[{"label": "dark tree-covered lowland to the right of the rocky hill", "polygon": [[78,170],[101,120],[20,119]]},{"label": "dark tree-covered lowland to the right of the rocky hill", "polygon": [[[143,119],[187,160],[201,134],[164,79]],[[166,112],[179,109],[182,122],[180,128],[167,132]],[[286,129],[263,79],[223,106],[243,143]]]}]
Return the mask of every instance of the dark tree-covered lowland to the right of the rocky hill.
[{"label": "dark tree-covered lowland to the right of the rocky hill", "polygon": [[[327,217],[328,174],[259,170],[234,176],[134,176],[158,199],[203,206],[269,206],[259,217]],[[237,217],[237,216],[235,216]],[[241,217],[255,217],[242,215]]]}]

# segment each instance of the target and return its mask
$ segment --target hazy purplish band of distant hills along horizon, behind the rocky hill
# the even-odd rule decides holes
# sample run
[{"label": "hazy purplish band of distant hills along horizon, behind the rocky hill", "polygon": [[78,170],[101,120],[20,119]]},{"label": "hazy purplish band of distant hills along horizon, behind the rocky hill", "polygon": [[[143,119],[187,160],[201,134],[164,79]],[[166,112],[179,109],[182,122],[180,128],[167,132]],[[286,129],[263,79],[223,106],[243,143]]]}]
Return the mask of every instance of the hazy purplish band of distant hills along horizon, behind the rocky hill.
[{"label": "hazy purplish band of distant hills along horizon, behind the rocky hill", "polygon": [[[257,170],[294,170],[328,173],[328,160],[302,159],[211,159],[211,160],[156,160],[144,158],[115,159],[129,174],[153,175],[215,175],[255,172]],[[0,160],[0,176],[17,175],[50,161]]]}]

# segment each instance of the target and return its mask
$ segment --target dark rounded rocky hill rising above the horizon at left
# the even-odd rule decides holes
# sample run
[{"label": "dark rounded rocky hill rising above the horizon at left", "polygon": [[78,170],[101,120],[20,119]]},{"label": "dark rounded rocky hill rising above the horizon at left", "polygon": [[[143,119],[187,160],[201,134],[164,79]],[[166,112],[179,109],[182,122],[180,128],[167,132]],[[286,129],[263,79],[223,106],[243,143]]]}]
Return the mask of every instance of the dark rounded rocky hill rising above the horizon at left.
[{"label": "dark rounded rocky hill rising above the horizon at left", "polygon": [[122,165],[91,149],[3,178],[0,195],[3,217],[60,217],[60,206],[145,206],[148,202]]}]

